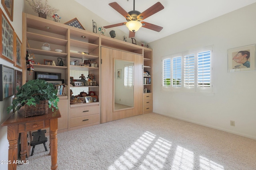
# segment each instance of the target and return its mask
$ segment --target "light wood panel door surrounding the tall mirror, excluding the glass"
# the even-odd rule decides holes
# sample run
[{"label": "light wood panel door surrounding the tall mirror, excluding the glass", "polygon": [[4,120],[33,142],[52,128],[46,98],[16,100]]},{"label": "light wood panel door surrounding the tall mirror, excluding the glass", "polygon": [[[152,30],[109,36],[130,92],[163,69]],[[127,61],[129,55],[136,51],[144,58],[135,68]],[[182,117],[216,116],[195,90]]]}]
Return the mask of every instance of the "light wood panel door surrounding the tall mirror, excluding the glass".
[{"label": "light wood panel door surrounding the tall mirror, excluding the glass", "polygon": [[[143,113],[143,56],[135,53],[101,47],[101,123],[140,115]],[[114,111],[114,59],[134,62],[134,107]]]}]

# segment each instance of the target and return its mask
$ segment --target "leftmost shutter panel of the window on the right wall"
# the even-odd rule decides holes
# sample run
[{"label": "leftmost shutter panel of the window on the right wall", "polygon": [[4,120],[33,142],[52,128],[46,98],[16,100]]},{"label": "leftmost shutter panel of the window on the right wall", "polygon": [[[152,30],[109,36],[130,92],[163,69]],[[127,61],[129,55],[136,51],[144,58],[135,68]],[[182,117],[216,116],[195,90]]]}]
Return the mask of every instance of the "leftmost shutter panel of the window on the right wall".
[{"label": "leftmost shutter panel of the window on the right wall", "polygon": [[171,59],[164,59],[163,60],[163,83],[162,86],[170,86],[170,78],[171,78]]}]

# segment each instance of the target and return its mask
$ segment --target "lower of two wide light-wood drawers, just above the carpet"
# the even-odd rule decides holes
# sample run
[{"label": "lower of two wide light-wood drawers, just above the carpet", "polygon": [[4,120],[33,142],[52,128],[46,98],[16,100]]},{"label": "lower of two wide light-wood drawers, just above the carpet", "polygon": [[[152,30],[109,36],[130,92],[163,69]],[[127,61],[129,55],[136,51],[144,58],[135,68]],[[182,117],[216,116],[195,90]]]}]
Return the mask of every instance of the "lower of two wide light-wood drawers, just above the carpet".
[{"label": "lower of two wide light-wood drawers, just above the carpet", "polygon": [[100,121],[100,114],[88,115],[82,117],[74,117],[70,119],[70,127],[86,125]]}]

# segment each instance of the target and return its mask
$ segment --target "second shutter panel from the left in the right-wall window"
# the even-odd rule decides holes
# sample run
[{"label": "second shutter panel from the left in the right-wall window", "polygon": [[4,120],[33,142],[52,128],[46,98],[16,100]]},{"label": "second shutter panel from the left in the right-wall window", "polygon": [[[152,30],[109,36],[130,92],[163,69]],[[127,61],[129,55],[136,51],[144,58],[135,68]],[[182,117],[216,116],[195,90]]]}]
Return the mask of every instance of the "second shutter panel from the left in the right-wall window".
[{"label": "second shutter panel from the left in the right-wall window", "polygon": [[182,85],[182,58],[174,57],[172,59],[172,86],[180,87]]}]

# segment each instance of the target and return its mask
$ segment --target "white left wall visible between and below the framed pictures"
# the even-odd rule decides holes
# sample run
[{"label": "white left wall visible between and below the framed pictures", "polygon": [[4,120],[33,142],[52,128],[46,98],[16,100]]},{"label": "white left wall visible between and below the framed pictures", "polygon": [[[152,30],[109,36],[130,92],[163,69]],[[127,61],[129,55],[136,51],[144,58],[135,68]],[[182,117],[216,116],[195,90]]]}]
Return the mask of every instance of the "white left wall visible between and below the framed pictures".
[{"label": "white left wall visible between and below the framed pictures", "polygon": [[[4,12],[8,20],[10,21],[14,31],[22,41],[22,11],[24,10],[24,2],[21,0],[14,0],[14,11],[13,11],[13,21],[10,21],[8,15],[6,14],[2,4],[0,4],[1,10]],[[24,55],[22,56],[24,57]],[[10,66],[16,70],[21,71],[21,69],[14,67],[13,64],[3,60],[0,58],[0,64],[4,64],[6,66]],[[6,109],[10,106],[12,97],[5,99],[4,101],[0,102],[0,124],[2,124],[10,114],[6,113]],[[9,143],[7,140],[7,127],[0,126],[0,160],[8,160],[8,147]],[[7,170],[7,164],[0,164],[1,170]]]}]

